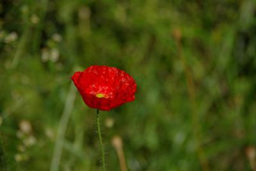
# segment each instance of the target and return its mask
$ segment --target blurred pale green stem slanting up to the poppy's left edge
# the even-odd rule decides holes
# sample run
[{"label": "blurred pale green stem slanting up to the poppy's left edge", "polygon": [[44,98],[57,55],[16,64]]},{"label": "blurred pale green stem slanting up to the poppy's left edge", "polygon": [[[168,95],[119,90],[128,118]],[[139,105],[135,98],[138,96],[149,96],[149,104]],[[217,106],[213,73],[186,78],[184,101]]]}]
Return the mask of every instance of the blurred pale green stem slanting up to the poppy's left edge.
[{"label": "blurred pale green stem slanting up to the poppy's left edge", "polygon": [[65,101],[65,107],[61,115],[60,124],[58,126],[56,142],[54,144],[54,151],[51,161],[51,171],[58,171],[61,160],[61,152],[63,148],[63,142],[65,138],[65,131],[67,129],[68,120],[70,118],[72,108],[74,106],[74,100],[76,98],[76,91],[73,83],[70,84],[69,93]]}]

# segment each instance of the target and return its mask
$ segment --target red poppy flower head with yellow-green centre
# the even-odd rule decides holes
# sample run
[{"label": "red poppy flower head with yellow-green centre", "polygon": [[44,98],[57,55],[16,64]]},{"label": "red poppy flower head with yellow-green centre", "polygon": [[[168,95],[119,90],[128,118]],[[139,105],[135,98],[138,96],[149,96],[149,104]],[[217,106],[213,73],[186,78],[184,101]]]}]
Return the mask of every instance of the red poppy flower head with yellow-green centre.
[{"label": "red poppy flower head with yellow-green centre", "polygon": [[88,107],[111,110],[135,99],[134,79],[115,67],[93,65],[72,80]]}]

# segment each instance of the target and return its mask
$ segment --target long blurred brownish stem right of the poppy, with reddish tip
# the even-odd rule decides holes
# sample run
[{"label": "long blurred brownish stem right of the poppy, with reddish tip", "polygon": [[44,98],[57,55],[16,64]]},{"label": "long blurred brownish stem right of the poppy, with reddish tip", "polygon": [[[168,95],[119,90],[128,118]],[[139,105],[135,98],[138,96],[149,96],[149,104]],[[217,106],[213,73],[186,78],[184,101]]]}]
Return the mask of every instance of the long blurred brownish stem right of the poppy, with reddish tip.
[{"label": "long blurred brownish stem right of the poppy, with reddish tip", "polygon": [[184,74],[185,74],[186,82],[187,82],[189,104],[190,104],[191,114],[192,114],[192,129],[193,129],[193,134],[195,136],[195,141],[196,141],[196,152],[198,154],[198,159],[200,161],[202,170],[209,171],[210,170],[209,163],[205,156],[204,149],[201,146],[202,133],[201,133],[201,128],[200,128],[199,117],[196,112],[196,100],[195,100],[196,93],[195,93],[195,85],[193,82],[193,75],[192,75],[191,71],[189,71],[188,64],[186,63],[186,59],[182,53],[182,44],[180,41],[182,38],[182,33],[181,33],[180,29],[175,30],[174,37],[175,37],[175,41],[176,41],[176,45],[177,45],[178,56],[180,57],[180,59],[182,61],[182,66],[184,68]]}]

